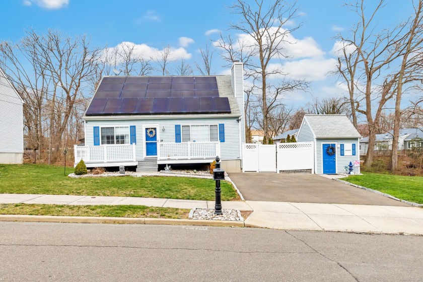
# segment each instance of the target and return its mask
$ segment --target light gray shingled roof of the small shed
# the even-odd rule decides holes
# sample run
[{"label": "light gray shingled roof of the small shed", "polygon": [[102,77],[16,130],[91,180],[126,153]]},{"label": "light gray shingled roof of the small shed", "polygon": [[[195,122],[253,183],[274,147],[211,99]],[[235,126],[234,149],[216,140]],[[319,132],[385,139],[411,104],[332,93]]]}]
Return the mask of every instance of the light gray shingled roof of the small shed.
[{"label": "light gray shingled roof of the small shed", "polygon": [[360,138],[359,131],[346,115],[304,116],[316,138]]}]

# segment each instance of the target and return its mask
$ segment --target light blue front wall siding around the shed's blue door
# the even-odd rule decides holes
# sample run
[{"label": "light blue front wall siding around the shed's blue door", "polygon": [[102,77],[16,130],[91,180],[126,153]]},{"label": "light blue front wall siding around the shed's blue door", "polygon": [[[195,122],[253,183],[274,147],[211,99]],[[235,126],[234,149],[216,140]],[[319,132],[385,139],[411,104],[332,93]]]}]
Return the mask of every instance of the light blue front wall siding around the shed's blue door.
[{"label": "light blue front wall siding around the shed's blue door", "polygon": [[[352,162],[354,165],[355,161],[360,161],[360,151],[359,151],[359,140],[358,138],[337,138],[337,139],[316,139],[316,173],[323,173],[322,165],[322,144],[336,144],[335,149],[335,161],[336,161],[336,172],[345,173],[344,167],[349,165],[349,162]],[[356,144],[356,156],[341,156],[340,145],[341,144]],[[354,168],[354,173],[359,173],[359,168]]]}]

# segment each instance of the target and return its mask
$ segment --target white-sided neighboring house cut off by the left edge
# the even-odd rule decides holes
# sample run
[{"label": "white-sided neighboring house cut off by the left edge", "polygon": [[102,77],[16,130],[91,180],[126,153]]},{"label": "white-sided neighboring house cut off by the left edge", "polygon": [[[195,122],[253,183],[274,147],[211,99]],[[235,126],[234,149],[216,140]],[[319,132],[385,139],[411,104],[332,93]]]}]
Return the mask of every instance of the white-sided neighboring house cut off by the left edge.
[{"label": "white-sided neighboring house cut off by the left edge", "polygon": [[22,164],[23,103],[21,96],[0,68],[0,164]]}]

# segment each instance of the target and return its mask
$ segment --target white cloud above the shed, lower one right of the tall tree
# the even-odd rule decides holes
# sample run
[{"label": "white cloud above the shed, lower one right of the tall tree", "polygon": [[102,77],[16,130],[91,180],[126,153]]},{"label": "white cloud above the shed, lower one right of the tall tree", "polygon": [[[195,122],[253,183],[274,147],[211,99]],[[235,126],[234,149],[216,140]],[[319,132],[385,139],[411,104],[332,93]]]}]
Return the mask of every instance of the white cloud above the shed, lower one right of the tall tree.
[{"label": "white cloud above the shed, lower one right of the tall tree", "polygon": [[[289,61],[284,64],[269,64],[269,70],[283,69],[288,77],[293,79],[305,79],[307,81],[322,81],[327,78],[327,73],[336,67],[336,59],[306,58]],[[274,75],[278,78],[279,75]]]}]

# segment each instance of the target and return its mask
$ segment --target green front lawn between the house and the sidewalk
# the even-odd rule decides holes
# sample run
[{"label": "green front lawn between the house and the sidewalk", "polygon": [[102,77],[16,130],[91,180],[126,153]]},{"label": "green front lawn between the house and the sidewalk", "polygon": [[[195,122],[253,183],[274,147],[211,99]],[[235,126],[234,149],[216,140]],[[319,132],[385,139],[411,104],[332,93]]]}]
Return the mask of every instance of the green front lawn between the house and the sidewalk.
[{"label": "green front lawn between the house and the sidewalk", "polygon": [[[73,168],[66,169],[66,175]],[[237,200],[232,185],[221,182],[222,200]],[[70,178],[63,167],[49,165],[0,165],[0,193],[129,196],[214,200],[215,181],[189,177]]]}]

